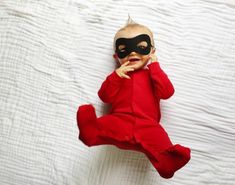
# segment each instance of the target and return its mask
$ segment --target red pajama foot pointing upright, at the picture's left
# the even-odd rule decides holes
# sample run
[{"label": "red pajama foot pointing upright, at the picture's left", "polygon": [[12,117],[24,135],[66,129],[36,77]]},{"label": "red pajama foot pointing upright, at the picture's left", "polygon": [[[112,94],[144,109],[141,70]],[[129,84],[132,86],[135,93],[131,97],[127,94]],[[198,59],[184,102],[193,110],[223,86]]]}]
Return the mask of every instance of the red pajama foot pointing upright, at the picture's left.
[{"label": "red pajama foot pointing upright, at the picture's left", "polygon": [[80,131],[79,139],[87,146],[96,142],[98,133],[95,109],[92,105],[82,105],[77,111],[77,126]]}]

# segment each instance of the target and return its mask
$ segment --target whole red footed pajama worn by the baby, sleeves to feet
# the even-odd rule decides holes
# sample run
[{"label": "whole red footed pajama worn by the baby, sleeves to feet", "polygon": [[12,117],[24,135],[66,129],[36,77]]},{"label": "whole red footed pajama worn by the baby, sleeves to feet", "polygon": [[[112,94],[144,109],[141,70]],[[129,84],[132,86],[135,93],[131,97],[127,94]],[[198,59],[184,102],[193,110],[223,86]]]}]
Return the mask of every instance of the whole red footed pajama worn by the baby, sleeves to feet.
[{"label": "whole red footed pajama worn by the baby, sleeves to feet", "polygon": [[98,95],[111,104],[109,114],[96,117],[92,105],[77,111],[79,139],[87,146],[115,145],[143,152],[159,174],[171,178],[190,160],[190,149],[173,145],[160,124],[160,100],[174,94],[174,88],[158,62],[128,74],[111,73]]}]

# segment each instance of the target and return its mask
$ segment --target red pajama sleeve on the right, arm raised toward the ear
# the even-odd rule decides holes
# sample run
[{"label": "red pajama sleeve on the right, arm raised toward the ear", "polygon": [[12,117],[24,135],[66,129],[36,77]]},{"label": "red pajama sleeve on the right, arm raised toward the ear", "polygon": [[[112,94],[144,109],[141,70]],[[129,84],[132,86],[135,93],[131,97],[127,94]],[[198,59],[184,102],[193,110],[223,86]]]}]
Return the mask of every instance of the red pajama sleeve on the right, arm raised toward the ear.
[{"label": "red pajama sleeve on the right, arm raised toward the ear", "polygon": [[175,90],[166,73],[161,69],[159,63],[152,62],[148,65],[148,68],[153,81],[156,97],[159,99],[170,98]]}]

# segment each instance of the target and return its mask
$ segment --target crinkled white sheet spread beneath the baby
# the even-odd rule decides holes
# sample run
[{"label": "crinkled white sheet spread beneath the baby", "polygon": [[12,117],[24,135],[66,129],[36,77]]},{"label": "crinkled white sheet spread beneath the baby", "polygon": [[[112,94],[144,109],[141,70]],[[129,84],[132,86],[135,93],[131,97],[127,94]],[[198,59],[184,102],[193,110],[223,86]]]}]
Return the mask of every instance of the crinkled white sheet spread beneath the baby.
[{"label": "crinkled white sheet spread beneath the baby", "polygon": [[[175,85],[162,124],[192,149],[169,180],[141,153],[77,140],[77,107],[105,112],[97,91],[128,13]],[[234,185],[235,1],[1,0],[0,184]]]}]

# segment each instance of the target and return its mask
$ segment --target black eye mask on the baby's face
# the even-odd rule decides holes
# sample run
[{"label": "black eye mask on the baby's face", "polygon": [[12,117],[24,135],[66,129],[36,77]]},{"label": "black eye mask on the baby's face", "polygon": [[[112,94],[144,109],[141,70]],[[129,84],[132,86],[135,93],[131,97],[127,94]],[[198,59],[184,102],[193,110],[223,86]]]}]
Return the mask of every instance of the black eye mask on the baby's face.
[{"label": "black eye mask on the baby's face", "polygon": [[[141,47],[141,42],[147,42],[146,47]],[[124,45],[124,48],[119,49],[120,45]],[[151,40],[147,34],[141,34],[133,38],[119,38],[116,40],[116,53],[119,58],[125,58],[131,52],[136,52],[141,55],[147,55],[151,51]]]}]

